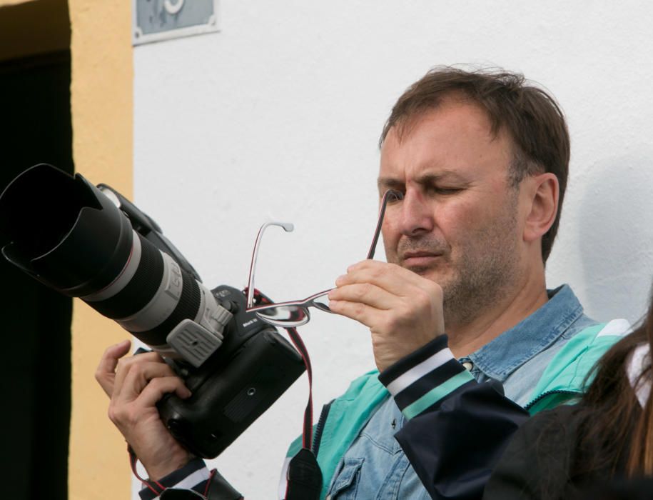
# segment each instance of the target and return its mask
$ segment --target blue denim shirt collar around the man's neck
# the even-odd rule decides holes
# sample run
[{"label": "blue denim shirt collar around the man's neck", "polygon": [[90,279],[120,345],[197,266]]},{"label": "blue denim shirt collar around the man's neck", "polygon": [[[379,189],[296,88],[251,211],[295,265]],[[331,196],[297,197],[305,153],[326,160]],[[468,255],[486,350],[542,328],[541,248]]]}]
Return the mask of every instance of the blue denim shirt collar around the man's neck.
[{"label": "blue denim shirt collar around the man's neck", "polygon": [[515,369],[553,344],[583,314],[568,285],[547,290],[549,300],[511,329],[468,356],[487,376],[505,381]]}]

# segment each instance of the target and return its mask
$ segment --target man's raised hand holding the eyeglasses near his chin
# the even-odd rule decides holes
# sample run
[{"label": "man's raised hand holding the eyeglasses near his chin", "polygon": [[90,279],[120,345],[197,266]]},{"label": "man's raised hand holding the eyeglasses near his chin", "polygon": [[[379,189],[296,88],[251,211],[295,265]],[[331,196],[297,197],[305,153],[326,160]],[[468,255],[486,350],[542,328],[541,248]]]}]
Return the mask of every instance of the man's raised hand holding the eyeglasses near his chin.
[{"label": "man's raised hand holding the eyeglasses near his chin", "polygon": [[445,333],[442,288],[408,269],[365,260],[335,285],[329,308],[369,327],[379,371]]}]

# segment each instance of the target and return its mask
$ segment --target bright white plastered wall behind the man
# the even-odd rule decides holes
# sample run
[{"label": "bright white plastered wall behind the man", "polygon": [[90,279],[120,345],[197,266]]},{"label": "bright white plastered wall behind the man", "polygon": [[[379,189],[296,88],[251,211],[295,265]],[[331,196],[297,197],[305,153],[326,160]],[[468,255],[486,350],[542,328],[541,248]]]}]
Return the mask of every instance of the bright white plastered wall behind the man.
[{"label": "bright white plastered wall behind the man", "polygon": [[[365,256],[378,135],[405,87],[435,64],[503,66],[569,118],[549,285],[572,284],[597,319],[637,319],[653,264],[652,17],[644,1],[223,0],[221,33],[135,49],[136,203],[209,286],[244,286],[258,226],[293,221],[267,235],[257,285],[307,296]],[[318,409],[373,368],[352,321],[318,312],[300,333]],[[306,396],[304,377],[216,460],[247,498],[273,498]]]}]

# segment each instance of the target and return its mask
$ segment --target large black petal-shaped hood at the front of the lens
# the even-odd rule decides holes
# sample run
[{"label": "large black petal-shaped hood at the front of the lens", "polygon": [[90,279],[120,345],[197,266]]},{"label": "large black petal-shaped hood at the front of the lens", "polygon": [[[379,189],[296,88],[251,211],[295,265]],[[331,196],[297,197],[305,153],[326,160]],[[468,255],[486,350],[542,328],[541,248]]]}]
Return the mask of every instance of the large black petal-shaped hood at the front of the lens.
[{"label": "large black petal-shaped hood at the front of the lens", "polygon": [[69,296],[108,286],[129,258],[131,224],[81,174],[32,166],[0,195],[0,215],[4,256]]}]

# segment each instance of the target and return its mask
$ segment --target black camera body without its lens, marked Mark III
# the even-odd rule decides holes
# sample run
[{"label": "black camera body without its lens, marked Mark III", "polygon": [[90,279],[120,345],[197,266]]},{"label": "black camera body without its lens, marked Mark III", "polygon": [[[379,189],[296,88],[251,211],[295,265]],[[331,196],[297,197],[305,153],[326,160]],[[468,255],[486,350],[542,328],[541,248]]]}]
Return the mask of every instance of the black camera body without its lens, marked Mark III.
[{"label": "black camera body without its lens, marked Mark III", "polygon": [[305,370],[273,326],[245,311],[242,291],[218,286],[211,293],[233,308],[223,344],[198,368],[182,367],[190,398],[168,395],[158,404],[173,436],[204,458],[218,456]]}]

